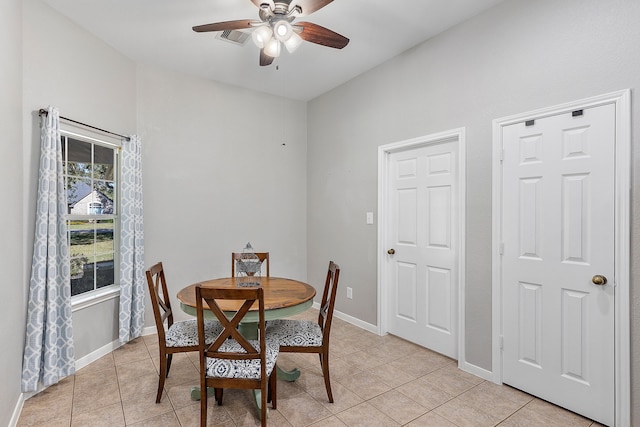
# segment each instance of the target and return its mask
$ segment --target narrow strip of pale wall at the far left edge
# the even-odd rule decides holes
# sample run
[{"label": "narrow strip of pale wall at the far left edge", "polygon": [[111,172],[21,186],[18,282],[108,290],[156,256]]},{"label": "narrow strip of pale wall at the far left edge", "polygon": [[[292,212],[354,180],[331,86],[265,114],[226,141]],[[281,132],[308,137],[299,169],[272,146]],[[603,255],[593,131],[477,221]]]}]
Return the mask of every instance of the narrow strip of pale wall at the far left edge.
[{"label": "narrow strip of pale wall at the far left edge", "polygon": [[26,318],[22,257],[22,2],[0,2],[0,271],[2,271],[2,321],[0,337],[5,348],[0,364],[0,425],[9,425],[20,397],[22,351]]}]

